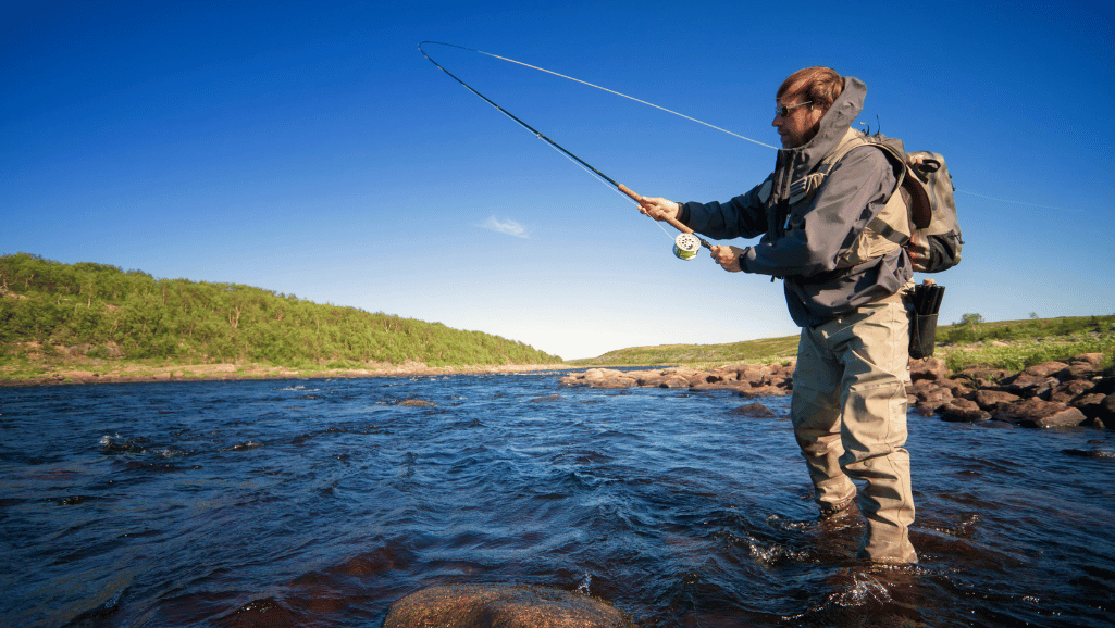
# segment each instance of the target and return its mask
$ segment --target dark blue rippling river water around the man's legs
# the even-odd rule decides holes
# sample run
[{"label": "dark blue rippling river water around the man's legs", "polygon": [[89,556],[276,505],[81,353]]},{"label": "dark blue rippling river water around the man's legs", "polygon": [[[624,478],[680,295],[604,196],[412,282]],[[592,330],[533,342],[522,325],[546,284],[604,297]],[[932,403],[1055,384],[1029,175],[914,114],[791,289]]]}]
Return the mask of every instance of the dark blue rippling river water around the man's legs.
[{"label": "dark blue rippling river water around the man's legs", "polygon": [[641,627],[1113,625],[1113,432],[912,412],[921,563],[880,571],[788,399],[559,376],[0,389],[0,626],[378,627],[477,582]]}]

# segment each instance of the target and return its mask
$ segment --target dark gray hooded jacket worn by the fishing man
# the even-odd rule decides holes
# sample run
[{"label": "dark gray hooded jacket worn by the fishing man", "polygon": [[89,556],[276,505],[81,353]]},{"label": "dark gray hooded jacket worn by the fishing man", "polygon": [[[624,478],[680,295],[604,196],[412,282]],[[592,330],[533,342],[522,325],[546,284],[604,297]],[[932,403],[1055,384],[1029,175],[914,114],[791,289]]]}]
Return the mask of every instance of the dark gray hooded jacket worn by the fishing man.
[{"label": "dark gray hooded jacket worn by the fishing man", "polygon": [[782,277],[789,315],[814,327],[899,291],[913,275],[899,248],[843,267],[842,256],[895,192],[903,165],[878,148],[842,158],[815,194],[791,202],[791,187],[814,171],[863,109],[867,89],[846,77],[840,98],[805,146],[778,150],[775,170],[727,203],[686,203],[681,222],[715,239],[763,236],[740,256],[747,273]]}]

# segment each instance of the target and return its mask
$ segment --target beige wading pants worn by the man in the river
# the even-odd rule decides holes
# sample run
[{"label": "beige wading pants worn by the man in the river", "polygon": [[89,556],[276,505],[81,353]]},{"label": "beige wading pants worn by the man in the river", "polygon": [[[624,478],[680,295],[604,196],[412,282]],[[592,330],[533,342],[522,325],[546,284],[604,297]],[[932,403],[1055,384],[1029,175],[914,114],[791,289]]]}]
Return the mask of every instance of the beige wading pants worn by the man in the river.
[{"label": "beige wading pants worn by the man in the river", "polygon": [[899,295],[802,330],[791,409],[822,513],[852,503],[852,480],[865,483],[859,558],[891,563],[918,561],[908,537],[910,454],[902,447],[910,323]]}]

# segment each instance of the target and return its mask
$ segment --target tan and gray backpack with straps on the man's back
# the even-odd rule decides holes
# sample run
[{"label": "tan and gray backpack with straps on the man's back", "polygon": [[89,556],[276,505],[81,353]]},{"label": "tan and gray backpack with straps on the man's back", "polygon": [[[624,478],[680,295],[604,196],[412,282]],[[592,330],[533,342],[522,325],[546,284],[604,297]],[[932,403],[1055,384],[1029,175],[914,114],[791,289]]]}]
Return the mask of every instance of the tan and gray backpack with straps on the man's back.
[{"label": "tan and gray backpack with straps on the man's back", "polygon": [[940,273],[959,264],[963,241],[952,198],[956,187],[944,157],[937,153],[904,153],[900,139],[849,129],[816,171],[795,184],[799,193],[815,190],[841,158],[861,146],[881,148],[894,161],[903,163],[905,171],[899,177],[896,194],[845,255],[845,264],[861,263],[896,246],[906,249],[913,269],[920,273]]}]

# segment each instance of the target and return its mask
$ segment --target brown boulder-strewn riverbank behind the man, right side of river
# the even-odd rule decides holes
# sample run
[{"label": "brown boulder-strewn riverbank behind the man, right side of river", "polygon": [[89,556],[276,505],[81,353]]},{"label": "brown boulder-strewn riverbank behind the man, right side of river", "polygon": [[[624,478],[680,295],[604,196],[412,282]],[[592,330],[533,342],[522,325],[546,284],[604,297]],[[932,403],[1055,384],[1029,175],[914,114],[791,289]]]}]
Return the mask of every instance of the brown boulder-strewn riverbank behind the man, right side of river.
[{"label": "brown boulder-strewn riverbank behind the man, right side of river", "polygon": [[[911,408],[946,421],[1002,421],[1027,428],[1087,425],[1115,429],[1115,367],[1086,353],[1020,372],[971,366],[950,373],[942,360],[910,361],[906,395]],[[746,399],[785,395],[794,389],[794,362],[737,364],[709,370],[646,371],[589,369],[561,379],[598,389],[656,386],[690,391],[730,390]]]}]

